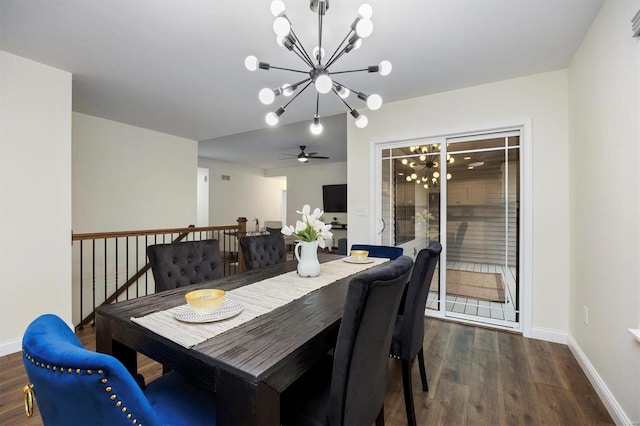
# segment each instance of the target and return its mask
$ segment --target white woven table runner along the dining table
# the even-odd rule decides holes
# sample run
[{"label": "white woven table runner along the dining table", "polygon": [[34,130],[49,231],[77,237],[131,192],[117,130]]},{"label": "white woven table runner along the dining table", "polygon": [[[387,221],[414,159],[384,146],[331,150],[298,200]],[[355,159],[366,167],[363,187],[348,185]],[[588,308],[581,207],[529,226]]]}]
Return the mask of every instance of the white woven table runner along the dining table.
[{"label": "white woven table runner along the dining table", "polygon": [[[176,308],[132,317],[139,324],[185,348],[191,348],[218,334],[286,305],[339,279],[348,277],[389,259],[370,258],[371,263],[348,263],[342,259],[322,263],[320,275],[302,278],[295,271],[230,290],[226,297],[239,302],[243,311],[233,318],[210,323],[185,323],[174,318]],[[212,287],[215,283],[212,283]]]}]

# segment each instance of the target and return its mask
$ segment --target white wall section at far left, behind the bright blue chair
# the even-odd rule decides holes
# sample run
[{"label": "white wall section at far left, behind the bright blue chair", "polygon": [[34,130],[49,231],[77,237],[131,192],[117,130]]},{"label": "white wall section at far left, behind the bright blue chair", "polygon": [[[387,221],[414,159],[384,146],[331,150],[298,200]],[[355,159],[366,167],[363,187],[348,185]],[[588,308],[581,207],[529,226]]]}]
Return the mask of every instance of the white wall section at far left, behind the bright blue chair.
[{"label": "white wall section at far left, behind the bright blue chair", "polygon": [[71,324],[71,74],[0,51],[0,356]]}]

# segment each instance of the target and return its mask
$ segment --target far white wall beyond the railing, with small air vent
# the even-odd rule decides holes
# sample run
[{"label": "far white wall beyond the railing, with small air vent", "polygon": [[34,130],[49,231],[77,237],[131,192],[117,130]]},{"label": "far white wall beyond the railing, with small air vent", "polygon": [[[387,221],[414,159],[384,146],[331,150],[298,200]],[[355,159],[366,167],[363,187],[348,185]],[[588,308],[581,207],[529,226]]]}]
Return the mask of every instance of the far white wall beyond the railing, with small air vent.
[{"label": "far white wall beyond the railing, with small air vent", "polygon": [[[198,166],[209,169],[209,224],[233,225],[238,217],[246,217],[247,229],[254,219],[260,227],[265,220],[282,217],[282,191],[287,188],[283,177],[265,177],[264,170],[224,161],[199,158]],[[230,180],[222,180],[222,176]]]}]

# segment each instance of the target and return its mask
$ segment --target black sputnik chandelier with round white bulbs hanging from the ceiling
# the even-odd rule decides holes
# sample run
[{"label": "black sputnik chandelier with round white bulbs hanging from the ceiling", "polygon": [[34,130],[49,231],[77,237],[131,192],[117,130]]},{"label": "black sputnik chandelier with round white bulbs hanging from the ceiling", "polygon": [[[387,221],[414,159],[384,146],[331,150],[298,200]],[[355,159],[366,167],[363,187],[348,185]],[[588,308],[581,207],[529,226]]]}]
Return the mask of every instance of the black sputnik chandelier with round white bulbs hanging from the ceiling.
[{"label": "black sputnik chandelier with round white bulbs hanging from the ceiling", "polygon": [[[292,84],[283,84],[275,89],[264,88],[260,90],[258,98],[265,105],[271,105],[275,98],[279,95],[289,97],[293,95],[287,103],[279,107],[275,112],[269,112],[265,117],[267,124],[275,126],[278,124],[279,118],[284,114],[285,109],[294,101],[302,92],[304,92],[312,83],[316,89],[316,113],[313,117],[313,123],[310,126],[311,133],[318,135],[322,133],[322,123],[320,123],[320,95],[329,92],[335,93],[340,100],[349,109],[349,113],[355,119],[356,126],[363,128],[367,125],[368,119],[365,115],[360,114],[355,108],[352,108],[346,101],[351,92],[358,97],[358,99],[365,101],[366,105],[371,110],[377,110],[382,106],[382,98],[378,94],[366,95],[362,92],[354,91],[348,88],[344,84],[335,80],[335,76],[338,74],[353,73],[353,72],[377,72],[380,75],[388,75],[391,72],[391,63],[389,61],[382,61],[378,65],[371,65],[366,68],[344,70],[344,71],[330,71],[338,59],[343,55],[351,52],[354,49],[358,49],[362,44],[362,39],[367,38],[373,32],[373,23],[371,22],[371,15],[373,10],[370,5],[363,4],[358,9],[358,16],[353,21],[347,35],[338,45],[333,54],[324,60],[324,48],[322,46],[322,19],[329,9],[329,0],[310,0],[309,7],[311,10],[318,14],[318,45],[312,50],[311,55],[304,48],[298,36],[293,31],[291,21],[285,14],[284,2],[281,0],[274,0],[271,3],[271,13],[275,16],[273,22],[273,30],[276,33],[276,41],[280,46],[287,48],[289,51],[296,54],[309,70],[298,70],[292,68],[283,68],[270,65],[266,62],[260,62],[255,56],[247,56],[244,61],[245,66],[249,71],[255,71],[257,69],[269,70],[277,69],[284,71],[291,71],[295,73],[307,74],[308,77]],[[295,94],[294,94],[295,93]]]}]

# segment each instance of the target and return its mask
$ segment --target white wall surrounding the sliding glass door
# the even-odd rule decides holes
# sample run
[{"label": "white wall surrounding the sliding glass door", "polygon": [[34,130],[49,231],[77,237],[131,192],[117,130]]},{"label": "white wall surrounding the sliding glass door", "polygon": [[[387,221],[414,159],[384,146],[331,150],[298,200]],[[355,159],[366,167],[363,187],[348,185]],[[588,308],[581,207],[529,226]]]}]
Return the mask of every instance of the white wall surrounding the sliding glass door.
[{"label": "white wall surrounding the sliding glass door", "polygon": [[[569,175],[566,70],[386,104],[369,125],[348,124],[349,240],[367,242],[375,219],[371,143],[474,131],[530,120],[533,151],[532,312],[536,332],[566,336],[569,326]],[[526,165],[526,162],[525,162]],[[363,208],[365,216],[356,216]],[[527,214],[527,212],[525,212]],[[530,334],[532,330],[526,330]]]}]

